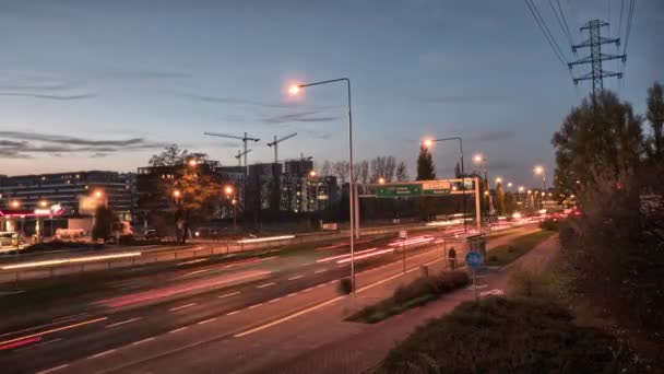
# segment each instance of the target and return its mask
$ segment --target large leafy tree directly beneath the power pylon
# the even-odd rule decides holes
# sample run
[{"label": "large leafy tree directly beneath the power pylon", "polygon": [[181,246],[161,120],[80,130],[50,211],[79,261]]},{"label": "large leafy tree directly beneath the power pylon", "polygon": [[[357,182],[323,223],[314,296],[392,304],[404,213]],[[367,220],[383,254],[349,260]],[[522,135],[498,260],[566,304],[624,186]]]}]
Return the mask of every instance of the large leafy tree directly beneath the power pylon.
[{"label": "large leafy tree directly beneath the power pylon", "polygon": [[584,98],[572,108],[553,139],[556,150],[556,187],[561,194],[576,194],[592,183],[589,171],[612,170],[617,175],[639,165],[643,151],[641,117],[629,103],[605,91],[592,101]]}]

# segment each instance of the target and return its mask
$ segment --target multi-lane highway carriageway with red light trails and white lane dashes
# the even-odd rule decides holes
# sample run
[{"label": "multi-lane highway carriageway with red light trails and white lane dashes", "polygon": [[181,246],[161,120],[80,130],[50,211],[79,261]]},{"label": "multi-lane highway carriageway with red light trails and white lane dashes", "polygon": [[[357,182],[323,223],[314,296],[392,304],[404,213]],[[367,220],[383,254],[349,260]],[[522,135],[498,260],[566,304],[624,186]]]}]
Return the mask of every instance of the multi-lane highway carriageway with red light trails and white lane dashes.
[{"label": "multi-lane highway carriageway with red light trails and white lane dashes", "polygon": [[[458,232],[435,230],[411,237],[406,242],[408,268],[440,258],[440,242]],[[402,261],[395,250],[399,247],[388,238],[360,241],[356,247],[356,270],[361,274],[358,287],[393,273],[393,267],[390,273],[382,269]],[[180,262],[181,269],[105,281],[98,291],[35,303],[32,313],[3,318],[0,365],[3,373],[49,370],[109,354],[123,346],[139,349],[155,337],[183,334],[199,325],[214,325],[218,334],[233,335],[336,297],[335,283],[349,274],[347,253],[347,244],[340,241],[292,254],[229,258],[218,264],[187,259]],[[2,314],[12,315],[7,312]]]}]

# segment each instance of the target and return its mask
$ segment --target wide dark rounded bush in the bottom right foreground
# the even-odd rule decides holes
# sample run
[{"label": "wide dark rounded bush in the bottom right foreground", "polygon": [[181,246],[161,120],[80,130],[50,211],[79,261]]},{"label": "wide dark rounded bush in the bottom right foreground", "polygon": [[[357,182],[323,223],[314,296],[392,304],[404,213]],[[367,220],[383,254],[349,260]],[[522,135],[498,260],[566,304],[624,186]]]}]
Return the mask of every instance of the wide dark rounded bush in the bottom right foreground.
[{"label": "wide dark rounded bush in the bottom right foreground", "polygon": [[633,372],[628,361],[614,337],[556,304],[488,297],[420,326],[377,373]]}]

